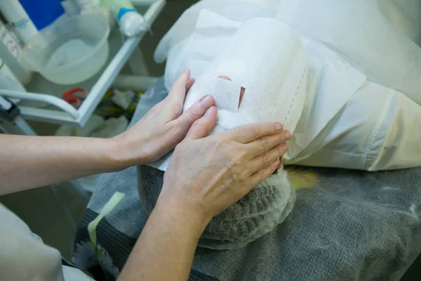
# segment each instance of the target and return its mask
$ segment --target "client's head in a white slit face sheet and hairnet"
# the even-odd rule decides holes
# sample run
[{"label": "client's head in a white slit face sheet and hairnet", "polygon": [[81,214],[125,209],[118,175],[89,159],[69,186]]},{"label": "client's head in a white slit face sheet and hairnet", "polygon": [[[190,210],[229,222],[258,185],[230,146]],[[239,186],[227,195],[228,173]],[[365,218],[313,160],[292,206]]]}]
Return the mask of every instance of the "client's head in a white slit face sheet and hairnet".
[{"label": "client's head in a white slit face sheet and hairnet", "polygon": [[[306,84],[307,58],[300,37],[277,20],[256,18],[236,30],[227,48],[196,79],[183,111],[210,94],[218,108],[210,134],[269,121],[281,122],[293,133],[304,107]],[[140,200],[149,214],[170,159],[168,155],[151,166],[138,167]],[[215,216],[201,235],[199,247],[244,247],[281,223],[294,202],[293,186],[286,171],[280,170]]]}]

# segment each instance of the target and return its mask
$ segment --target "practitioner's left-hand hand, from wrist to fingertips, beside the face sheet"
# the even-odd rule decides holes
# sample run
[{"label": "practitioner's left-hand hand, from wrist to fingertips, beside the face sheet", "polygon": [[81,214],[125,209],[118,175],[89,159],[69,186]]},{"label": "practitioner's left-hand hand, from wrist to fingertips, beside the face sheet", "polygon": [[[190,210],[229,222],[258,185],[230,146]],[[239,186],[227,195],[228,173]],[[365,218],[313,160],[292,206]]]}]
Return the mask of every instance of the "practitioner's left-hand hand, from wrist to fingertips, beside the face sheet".
[{"label": "practitioner's left-hand hand, from wrist to fingertips, beside the face sheet", "polygon": [[166,155],[185,138],[193,122],[215,103],[212,96],[205,96],[181,115],[185,95],[193,83],[190,71],[185,70],[161,103],[149,110],[131,129],[114,138],[119,144],[117,153],[125,164],[145,164]]}]

